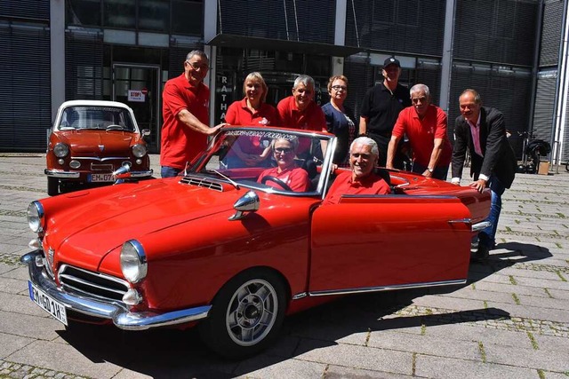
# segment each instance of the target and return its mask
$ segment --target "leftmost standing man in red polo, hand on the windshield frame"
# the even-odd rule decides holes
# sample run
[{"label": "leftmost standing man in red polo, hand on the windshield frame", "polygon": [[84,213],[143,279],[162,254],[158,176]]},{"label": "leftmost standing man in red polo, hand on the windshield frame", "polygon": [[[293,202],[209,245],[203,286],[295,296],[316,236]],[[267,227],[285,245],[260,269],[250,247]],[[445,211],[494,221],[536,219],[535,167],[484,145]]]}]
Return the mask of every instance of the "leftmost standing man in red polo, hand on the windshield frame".
[{"label": "leftmost standing man in red polo, hand on the windshield frame", "polygon": [[177,176],[205,146],[207,136],[215,134],[222,124],[210,128],[210,89],[203,83],[209,70],[204,51],[188,53],[184,72],[164,85],[160,165],[162,178]]}]

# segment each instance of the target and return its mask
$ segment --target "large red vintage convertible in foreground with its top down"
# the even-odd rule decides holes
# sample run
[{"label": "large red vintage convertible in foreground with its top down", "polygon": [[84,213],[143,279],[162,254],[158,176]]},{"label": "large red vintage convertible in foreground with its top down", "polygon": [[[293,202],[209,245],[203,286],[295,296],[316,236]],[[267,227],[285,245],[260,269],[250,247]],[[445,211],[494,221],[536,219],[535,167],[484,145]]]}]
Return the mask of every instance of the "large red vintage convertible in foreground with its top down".
[{"label": "large red vintage convertible in foreground with its top down", "polygon": [[[263,172],[270,154],[228,167],[237,145],[281,139],[299,141],[303,192]],[[322,205],[346,170],[334,169],[335,145],[327,133],[230,127],[177,178],[137,182],[125,167],[120,185],[33,201],[29,296],[66,325],[196,325],[235,358],[271,343],[285,314],[326,298],[464,283],[489,193],[383,170],[393,193]]]}]

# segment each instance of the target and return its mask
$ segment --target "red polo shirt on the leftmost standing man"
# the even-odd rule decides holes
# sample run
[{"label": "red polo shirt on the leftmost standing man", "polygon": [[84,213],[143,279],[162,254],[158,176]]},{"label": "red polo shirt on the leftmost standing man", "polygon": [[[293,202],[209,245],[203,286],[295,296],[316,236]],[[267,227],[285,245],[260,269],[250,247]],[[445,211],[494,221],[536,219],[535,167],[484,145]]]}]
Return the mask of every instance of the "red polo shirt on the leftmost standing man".
[{"label": "red polo shirt on the leftmost standing man", "polygon": [[207,146],[207,136],[192,130],[178,119],[182,109],[209,124],[210,89],[204,83],[194,86],[184,74],[170,79],[162,95],[162,138],[160,165],[183,170]]}]

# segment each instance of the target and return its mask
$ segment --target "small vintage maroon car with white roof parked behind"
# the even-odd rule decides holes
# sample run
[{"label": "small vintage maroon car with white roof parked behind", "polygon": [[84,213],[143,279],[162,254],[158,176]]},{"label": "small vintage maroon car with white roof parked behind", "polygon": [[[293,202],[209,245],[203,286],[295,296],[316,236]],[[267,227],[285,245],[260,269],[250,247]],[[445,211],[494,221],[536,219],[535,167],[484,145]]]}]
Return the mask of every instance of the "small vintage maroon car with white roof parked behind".
[{"label": "small vintage maroon car with white roof parked behind", "polygon": [[132,177],[150,178],[150,158],[130,107],[116,101],[74,100],[61,104],[45,154],[47,194],[69,185],[115,181],[112,172],[131,167]]}]

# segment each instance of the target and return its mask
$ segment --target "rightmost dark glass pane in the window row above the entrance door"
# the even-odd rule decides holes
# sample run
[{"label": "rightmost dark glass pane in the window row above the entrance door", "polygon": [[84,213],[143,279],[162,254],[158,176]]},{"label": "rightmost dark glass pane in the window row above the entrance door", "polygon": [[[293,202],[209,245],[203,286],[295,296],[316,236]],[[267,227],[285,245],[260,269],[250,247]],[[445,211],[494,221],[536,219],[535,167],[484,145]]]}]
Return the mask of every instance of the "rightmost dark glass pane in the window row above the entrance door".
[{"label": "rightmost dark glass pane in the window row above the entrance door", "polygon": [[172,0],[172,33],[195,36],[204,33],[202,1]]}]

